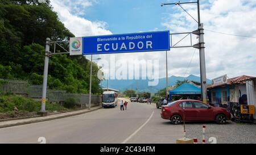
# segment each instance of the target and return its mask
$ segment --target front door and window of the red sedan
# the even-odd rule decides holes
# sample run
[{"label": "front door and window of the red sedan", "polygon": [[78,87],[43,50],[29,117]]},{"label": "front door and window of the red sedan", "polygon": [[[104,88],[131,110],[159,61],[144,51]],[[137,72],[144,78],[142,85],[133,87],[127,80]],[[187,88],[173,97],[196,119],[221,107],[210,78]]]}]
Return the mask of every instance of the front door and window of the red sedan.
[{"label": "front door and window of the red sedan", "polygon": [[212,120],[213,109],[209,108],[209,105],[201,102],[193,102],[193,107],[196,109],[197,120]]}]

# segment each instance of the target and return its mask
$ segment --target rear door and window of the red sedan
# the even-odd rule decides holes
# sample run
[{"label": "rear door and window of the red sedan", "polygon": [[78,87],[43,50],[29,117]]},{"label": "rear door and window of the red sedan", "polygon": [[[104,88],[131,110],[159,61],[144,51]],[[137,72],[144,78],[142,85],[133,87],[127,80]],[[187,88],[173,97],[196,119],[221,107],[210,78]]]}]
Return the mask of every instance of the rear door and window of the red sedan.
[{"label": "rear door and window of the red sedan", "polygon": [[190,102],[190,101],[181,102],[179,104],[179,107],[180,107],[179,113],[183,114],[182,117],[185,118],[185,120],[195,120],[196,119],[196,109],[193,108],[192,102]]}]

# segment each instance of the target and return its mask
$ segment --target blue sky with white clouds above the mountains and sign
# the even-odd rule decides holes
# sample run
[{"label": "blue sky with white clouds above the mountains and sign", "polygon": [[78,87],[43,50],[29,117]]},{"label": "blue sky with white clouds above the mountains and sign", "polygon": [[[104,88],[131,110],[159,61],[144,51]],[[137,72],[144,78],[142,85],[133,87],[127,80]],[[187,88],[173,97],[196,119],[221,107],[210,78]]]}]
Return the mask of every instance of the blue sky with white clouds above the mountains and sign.
[{"label": "blue sky with white clouds above the mountains and sign", "polygon": [[[77,37],[160,30],[170,30],[173,33],[196,30],[195,20],[179,6],[161,7],[161,3],[165,2],[176,1],[52,0],[51,5],[65,27]],[[243,74],[256,76],[256,1],[201,0],[200,2],[201,23],[204,23],[205,28],[207,78],[224,74],[228,74],[229,78]],[[183,5],[183,7],[196,18],[196,5]],[[181,37],[183,36],[176,36],[175,39]],[[193,43],[197,41],[195,37],[192,40]],[[189,40],[184,40],[180,45],[187,43]],[[117,59],[130,62],[159,60],[160,78],[166,75],[165,56],[165,52],[115,55]],[[94,56],[97,57],[110,60],[110,55]],[[200,76],[199,51],[193,48],[168,51],[168,76],[189,74]]]}]

